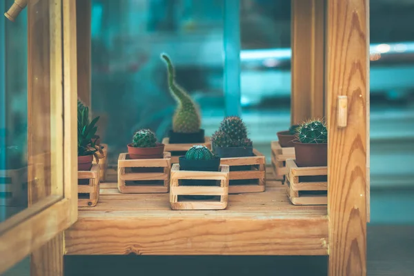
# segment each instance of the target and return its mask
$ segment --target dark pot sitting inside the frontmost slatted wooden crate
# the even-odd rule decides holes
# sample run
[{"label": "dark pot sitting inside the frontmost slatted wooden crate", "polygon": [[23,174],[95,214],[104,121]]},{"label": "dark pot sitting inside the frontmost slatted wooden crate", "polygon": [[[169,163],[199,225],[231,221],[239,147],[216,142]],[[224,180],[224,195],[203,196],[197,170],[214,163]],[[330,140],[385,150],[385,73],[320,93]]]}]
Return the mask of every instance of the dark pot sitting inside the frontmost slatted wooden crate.
[{"label": "dark pot sitting inside the frontmost slatted wooden crate", "polygon": [[[185,156],[179,157],[180,170],[200,170],[204,172],[217,172],[220,166],[220,158],[215,157],[214,159],[208,160],[187,160]],[[217,180],[195,180],[195,179],[183,179],[181,180],[182,186],[218,186],[219,181]],[[215,199],[212,195],[183,195],[181,199]]]}]

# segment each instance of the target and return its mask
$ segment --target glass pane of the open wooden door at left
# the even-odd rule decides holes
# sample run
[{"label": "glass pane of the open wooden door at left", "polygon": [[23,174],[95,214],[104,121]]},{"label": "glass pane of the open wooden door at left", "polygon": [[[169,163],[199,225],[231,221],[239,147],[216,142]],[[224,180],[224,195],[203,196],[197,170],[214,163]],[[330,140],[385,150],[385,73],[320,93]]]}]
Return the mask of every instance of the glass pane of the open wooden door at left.
[{"label": "glass pane of the open wooden door at left", "polygon": [[[1,14],[12,3],[1,3]],[[50,195],[62,195],[63,165],[57,162],[62,156],[61,42],[50,39],[50,29],[59,25],[52,21],[48,1],[29,6],[15,22],[0,19],[1,221],[38,201],[50,203]]]}]

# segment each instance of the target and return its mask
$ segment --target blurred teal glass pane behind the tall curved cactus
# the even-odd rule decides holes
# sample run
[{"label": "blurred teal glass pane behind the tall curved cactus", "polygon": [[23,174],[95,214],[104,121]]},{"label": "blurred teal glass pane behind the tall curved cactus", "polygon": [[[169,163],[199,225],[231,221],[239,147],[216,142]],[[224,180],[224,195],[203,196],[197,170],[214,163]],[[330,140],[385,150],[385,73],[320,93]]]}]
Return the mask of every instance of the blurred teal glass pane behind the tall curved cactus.
[{"label": "blurred teal glass pane behind the tall curved cactus", "polygon": [[175,99],[168,91],[166,52],[176,80],[199,103],[211,135],[224,115],[223,10],[214,1],[92,1],[92,110],[117,164],[138,128],[159,140],[171,128]]}]

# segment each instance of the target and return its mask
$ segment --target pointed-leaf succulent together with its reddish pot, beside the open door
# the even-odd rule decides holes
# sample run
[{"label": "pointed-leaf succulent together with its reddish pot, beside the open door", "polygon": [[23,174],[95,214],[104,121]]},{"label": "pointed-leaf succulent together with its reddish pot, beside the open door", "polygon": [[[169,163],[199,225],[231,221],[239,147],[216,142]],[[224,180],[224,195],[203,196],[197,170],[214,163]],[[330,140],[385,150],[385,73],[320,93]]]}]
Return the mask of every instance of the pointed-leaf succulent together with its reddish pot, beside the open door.
[{"label": "pointed-leaf succulent together with its reddish pot, beside the open door", "polygon": [[87,106],[79,108],[77,112],[78,119],[78,170],[90,170],[92,168],[92,159],[95,157],[97,164],[99,159],[103,158],[101,148],[92,142],[92,137],[97,132],[97,121],[99,117],[89,121],[89,110]]}]

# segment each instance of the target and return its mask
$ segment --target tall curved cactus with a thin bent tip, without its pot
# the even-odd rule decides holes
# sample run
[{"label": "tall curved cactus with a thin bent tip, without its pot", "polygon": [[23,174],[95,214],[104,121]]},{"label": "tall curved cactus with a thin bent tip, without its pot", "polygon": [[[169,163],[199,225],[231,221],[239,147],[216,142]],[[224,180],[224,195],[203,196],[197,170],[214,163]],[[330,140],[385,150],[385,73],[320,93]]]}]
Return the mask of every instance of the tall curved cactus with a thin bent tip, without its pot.
[{"label": "tall curved cactus with a thin bent tip, without its pot", "polygon": [[168,72],[168,86],[178,107],[172,117],[172,130],[174,132],[193,133],[198,132],[201,126],[199,110],[191,97],[175,83],[175,72],[168,55],[161,54],[161,59],[166,62]]}]

